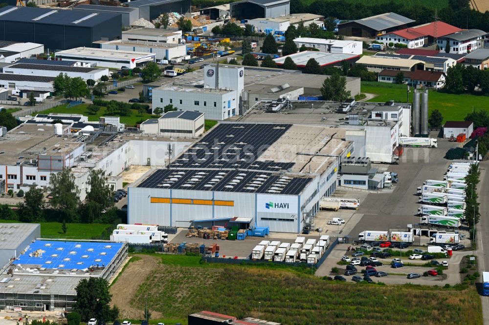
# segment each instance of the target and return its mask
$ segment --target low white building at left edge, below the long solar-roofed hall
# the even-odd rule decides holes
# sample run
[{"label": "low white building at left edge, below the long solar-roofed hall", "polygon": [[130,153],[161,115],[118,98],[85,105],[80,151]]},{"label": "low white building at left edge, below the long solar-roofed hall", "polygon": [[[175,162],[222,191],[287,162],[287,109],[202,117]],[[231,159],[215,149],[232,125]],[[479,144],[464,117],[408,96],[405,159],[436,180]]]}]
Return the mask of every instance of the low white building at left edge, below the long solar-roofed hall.
[{"label": "low white building at left edge, below the long solar-roofed hall", "polygon": [[9,90],[54,91],[54,77],[0,73],[0,88]]}]

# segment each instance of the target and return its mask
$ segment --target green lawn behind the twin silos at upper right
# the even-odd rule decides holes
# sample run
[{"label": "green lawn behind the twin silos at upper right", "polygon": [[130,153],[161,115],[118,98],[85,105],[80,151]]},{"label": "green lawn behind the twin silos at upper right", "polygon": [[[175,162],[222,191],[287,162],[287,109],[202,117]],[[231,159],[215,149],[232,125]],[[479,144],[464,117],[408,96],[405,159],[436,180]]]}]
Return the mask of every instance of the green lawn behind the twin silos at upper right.
[{"label": "green lawn behind the twin silos at upper right", "polygon": [[[412,88],[411,88],[412,89]],[[384,83],[384,82],[366,82],[362,81],[362,93],[377,94],[378,96],[369,100],[369,102],[387,102],[394,100],[396,102],[406,102],[407,85]],[[430,91],[428,107],[431,112],[438,109],[443,115],[443,121],[463,121],[467,113],[474,109],[489,110],[489,97],[476,96],[469,94],[445,94],[437,91]],[[413,93],[409,94],[409,102],[413,101]]]}]

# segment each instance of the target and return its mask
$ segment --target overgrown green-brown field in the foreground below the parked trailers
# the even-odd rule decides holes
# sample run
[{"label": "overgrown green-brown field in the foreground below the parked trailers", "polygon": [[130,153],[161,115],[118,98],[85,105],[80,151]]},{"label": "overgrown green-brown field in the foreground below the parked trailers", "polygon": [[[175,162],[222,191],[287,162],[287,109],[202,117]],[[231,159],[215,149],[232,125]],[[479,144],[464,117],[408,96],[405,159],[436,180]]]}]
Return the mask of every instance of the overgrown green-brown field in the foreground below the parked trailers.
[{"label": "overgrown green-brown field in the foreground below the parked trailers", "polygon": [[[187,314],[201,310],[258,317],[259,305],[260,318],[283,324],[482,322],[473,286],[335,283],[290,268],[200,264],[199,256],[137,256],[142,259],[129,264],[111,286],[113,303],[121,311],[137,311],[134,320],[142,319],[147,303],[152,324],[187,324]],[[125,279],[135,280],[137,288],[128,288]],[[115,296],[117,287],[125,294]],[[120,305],[120,296],[128,296],[127,305]]]}]

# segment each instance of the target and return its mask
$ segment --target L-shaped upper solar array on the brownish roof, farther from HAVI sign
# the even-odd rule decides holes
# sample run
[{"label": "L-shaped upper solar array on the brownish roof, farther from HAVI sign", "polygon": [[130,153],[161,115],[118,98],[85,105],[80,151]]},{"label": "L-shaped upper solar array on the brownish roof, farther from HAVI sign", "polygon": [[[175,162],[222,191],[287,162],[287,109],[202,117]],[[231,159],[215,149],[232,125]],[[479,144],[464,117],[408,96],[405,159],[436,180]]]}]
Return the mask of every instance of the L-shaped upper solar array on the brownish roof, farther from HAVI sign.
[{"label": "L-shaped upper solar array on the brownish roof, farther from HAVI sign", "polygon": [[292,124],[220,124],[188,148],[175,168],[247,168],[279,171],[293,163],[257,162],[267,145],[277,141]]}]

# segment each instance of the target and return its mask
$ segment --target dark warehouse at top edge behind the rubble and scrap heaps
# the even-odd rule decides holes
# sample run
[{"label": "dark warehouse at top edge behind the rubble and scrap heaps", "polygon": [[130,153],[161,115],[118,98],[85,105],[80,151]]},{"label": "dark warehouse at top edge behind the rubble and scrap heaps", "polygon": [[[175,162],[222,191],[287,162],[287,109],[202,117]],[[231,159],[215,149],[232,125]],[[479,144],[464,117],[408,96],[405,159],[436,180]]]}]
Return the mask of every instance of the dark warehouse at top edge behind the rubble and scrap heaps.
[{"label": "dark warehouse at top edge behind the rubble and scrap heaps", "polygon": [[139,9],[139,18],[154,20],[159,15],[176,12],[181,15],[190,15],[190,0],[136,0],[128,1],[129,8]]}]

